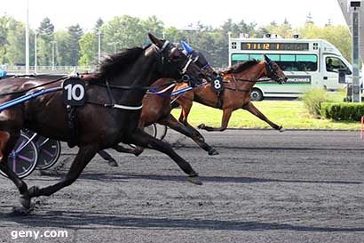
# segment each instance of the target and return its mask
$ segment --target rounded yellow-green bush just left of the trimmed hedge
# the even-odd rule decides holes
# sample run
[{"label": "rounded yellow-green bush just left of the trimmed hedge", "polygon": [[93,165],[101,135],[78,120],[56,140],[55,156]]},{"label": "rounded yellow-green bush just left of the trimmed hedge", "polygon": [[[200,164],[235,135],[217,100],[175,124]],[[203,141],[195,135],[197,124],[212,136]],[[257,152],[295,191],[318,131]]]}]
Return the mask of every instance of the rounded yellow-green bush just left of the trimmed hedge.
[{"label": "rounded yellow-green bush just left of the trimmed hedge", "polygon": [[304,93],[302,100],[308,112],[318,117],[321,115],[321,103],[328,101],[328,95],[322,89],[312,88]]}]

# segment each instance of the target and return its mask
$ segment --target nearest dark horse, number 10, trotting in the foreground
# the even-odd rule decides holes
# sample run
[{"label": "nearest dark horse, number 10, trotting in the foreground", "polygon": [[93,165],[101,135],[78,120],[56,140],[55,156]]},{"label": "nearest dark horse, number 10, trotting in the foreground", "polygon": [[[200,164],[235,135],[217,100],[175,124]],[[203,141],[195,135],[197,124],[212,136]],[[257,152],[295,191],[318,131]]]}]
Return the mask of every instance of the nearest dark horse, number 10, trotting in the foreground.
[{"label": "nearest dark horse, number 10, trotting in the foreground", "polygon": [[[0,169],[20,191],[22,207],[17,212],[27,214],[31,198],[51,196],[71,185],[99,150],[112,148],[119,142],[132,143],[167,154],[188,174],[189,182],[202,184],[192,166],[179,157],[168,143],[138,129],[141,101],[147,85],[161,77],[178,80],[183,76],[190,77],[191,83],[199,83],[202,82],[203,74],[174,45],[152,34],[148,36],[152,44],[146,48],[123,50],[102,63],[99,76],[85,85],[84,105],[74,109],[73,115],[76,118],[73,130],[69,126],[70,119],[61,92],[44,94],[0,113]],[[0,103],[57,85],[59,84],[37,78],[5,79],[0,83]],[[60,182],[44,188],[33,186],[28,189],[28,185],[7,166],[8,155],[23,127],[52,139],[72,142],[79,147],[75,160]]]}]

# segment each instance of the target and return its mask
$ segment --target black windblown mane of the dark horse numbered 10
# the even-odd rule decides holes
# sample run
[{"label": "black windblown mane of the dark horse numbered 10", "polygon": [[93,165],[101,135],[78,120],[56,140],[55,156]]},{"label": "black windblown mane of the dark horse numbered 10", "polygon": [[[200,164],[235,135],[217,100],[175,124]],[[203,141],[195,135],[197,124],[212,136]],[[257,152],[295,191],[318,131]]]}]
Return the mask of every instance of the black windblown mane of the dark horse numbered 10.
[{"label": "black windblown mane of the dark horse numbered 10", "polygon": [[129,67],[133,61],[137,60],[138,56],[140,56],[144,50],[145,48],[133,47],[123,49],[121,53],[108,56],[100,63],[99,75],[101,77],[115,77]]}]

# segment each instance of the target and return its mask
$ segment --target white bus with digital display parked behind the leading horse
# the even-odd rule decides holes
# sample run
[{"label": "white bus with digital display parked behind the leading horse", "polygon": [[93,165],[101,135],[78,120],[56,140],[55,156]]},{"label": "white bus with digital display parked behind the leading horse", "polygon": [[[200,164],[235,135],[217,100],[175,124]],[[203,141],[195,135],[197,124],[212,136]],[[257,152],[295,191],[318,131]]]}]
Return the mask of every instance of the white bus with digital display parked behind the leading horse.
[{"label": "white bus with digital display parked behind the leading horse", "polygon": [[310,87],[337,91],[339,70],[352,82],[352,65],[336,47],[321,39],[299,38],[229,38],[229,66],[250,59],[262,60],[266,54],[277,62],[289,80],[257,83],[251,93],[254,101],[265,97],[298,97]]}]

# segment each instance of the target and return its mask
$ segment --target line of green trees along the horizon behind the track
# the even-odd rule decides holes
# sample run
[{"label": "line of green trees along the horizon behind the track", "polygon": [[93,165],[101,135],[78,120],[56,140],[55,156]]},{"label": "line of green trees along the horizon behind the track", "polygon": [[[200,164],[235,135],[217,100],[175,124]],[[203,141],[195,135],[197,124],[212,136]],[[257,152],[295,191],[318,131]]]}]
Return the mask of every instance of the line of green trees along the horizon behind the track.
[{"label": "line of green trees along the horizon behind the track", "polygon": [[[24,65],[25,31],[24,22],[9,15],[0,16],[0,65]],[[51,20],[45,18],[38,28],[29,30],[30,65],[34,66],[35,39],[39,66],[51,66],[53,50],[55,65],[91,66],[98,63],[99,35],[102,55],[106,55],[119,52],[123,48],[147,45],[147,32],[164,36],[171,42],[185,40],[201,51],[213,67],[227,66],[228,33],[233,37],[241,33],[249,34],[250,37],[272,33],[282,37],[299,34],[302,38],[322,38],[335,45],[347,60],[351,60],[352,44],[348,28],[329,22],[320,27],[310,19],[300,28],[292,28],[289,21],[284,20],[282,23],[273,21],[269,25],[258,27],[254,22],[234,22],[229,19],[219,28],[197,23],[193,29],[178,29],[166,28],[162,20],[155,16],[142,20],[123,15],[107,22],[96,20],[94,28],[87,32],[83,31],[79,24],[55,31]]]}]

